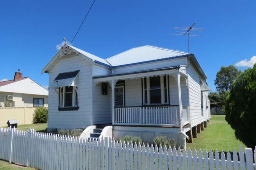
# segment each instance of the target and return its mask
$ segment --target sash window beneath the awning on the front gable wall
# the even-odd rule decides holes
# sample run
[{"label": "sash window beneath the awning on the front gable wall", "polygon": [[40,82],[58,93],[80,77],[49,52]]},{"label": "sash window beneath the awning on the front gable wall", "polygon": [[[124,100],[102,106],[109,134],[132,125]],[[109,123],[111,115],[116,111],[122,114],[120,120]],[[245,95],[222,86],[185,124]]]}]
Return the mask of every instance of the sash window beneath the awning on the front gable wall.
[{"label": "sash window beneath the awning on the front gable wall", "polygon": [[78,107],[77,87],[66,86],[59,88],[59,108]]}]

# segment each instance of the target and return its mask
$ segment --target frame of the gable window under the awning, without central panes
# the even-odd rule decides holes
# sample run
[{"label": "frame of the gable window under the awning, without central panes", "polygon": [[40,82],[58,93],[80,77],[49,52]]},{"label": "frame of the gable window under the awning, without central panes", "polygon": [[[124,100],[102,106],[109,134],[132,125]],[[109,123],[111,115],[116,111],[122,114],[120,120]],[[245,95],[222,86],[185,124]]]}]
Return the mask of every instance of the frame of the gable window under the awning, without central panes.
[{"label": "frame of the gable window under the awning, without central panes", "polygon": [[[77,110],[79,108],[79,98],[78,98],[78,87],[75,86],[70,86],[72,87],[72,92],[66,92],[66,87],[59,87],[59,111],[65,110],[67,108],[68,110]],[[65,103],[65,94],[70,94],[72,93],[72,106],[66,106]],[[75,108],[75,109],[72,109]]]}]

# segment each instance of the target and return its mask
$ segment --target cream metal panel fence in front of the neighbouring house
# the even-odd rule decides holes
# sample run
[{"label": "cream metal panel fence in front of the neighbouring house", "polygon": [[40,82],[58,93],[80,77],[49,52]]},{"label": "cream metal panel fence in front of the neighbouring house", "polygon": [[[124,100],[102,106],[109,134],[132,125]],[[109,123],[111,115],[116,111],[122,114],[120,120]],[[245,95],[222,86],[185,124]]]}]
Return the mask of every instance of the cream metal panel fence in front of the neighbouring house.
[{"label": "cream metal panel fence in front of the neighbouring house", "polygon": [[31,124],[35,108],[37,107],[0,107],[0,126],[7,126],[10,119],[17,119],[18,124]]}]

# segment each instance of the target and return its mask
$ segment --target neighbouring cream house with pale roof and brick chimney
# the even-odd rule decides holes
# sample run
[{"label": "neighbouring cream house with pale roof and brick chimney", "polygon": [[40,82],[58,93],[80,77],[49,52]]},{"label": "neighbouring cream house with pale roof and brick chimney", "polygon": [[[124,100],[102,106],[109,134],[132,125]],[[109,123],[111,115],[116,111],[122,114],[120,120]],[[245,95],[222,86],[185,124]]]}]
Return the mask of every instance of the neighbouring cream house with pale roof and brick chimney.
[{"label": "neighbouring cream house with pale roof and brick chimney", "polygon": [[0,107],[47,107],[48,90],[15,72],[13,80],[0,82]]}]

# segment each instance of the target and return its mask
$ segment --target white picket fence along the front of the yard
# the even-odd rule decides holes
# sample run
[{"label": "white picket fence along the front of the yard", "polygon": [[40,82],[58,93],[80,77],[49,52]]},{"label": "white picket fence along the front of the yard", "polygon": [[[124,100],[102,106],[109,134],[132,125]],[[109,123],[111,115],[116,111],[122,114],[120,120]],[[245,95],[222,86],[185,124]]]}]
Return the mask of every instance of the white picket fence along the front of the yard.
[{"label": "white picket fence along the front of the yard", "polygon": [[[202,170],[234,169],[253,170],[252,149],[224,152],[186,152],[164,146],[133,145],[114,139],[88,140],[77,137],[45,134],[34,130],[19,131],[0,128],[0,159],[37,169],[88,169],[88,170]],[[238,161],[238,155],[240,161]],[[256,158],[254,152],[254,159]]]}]

